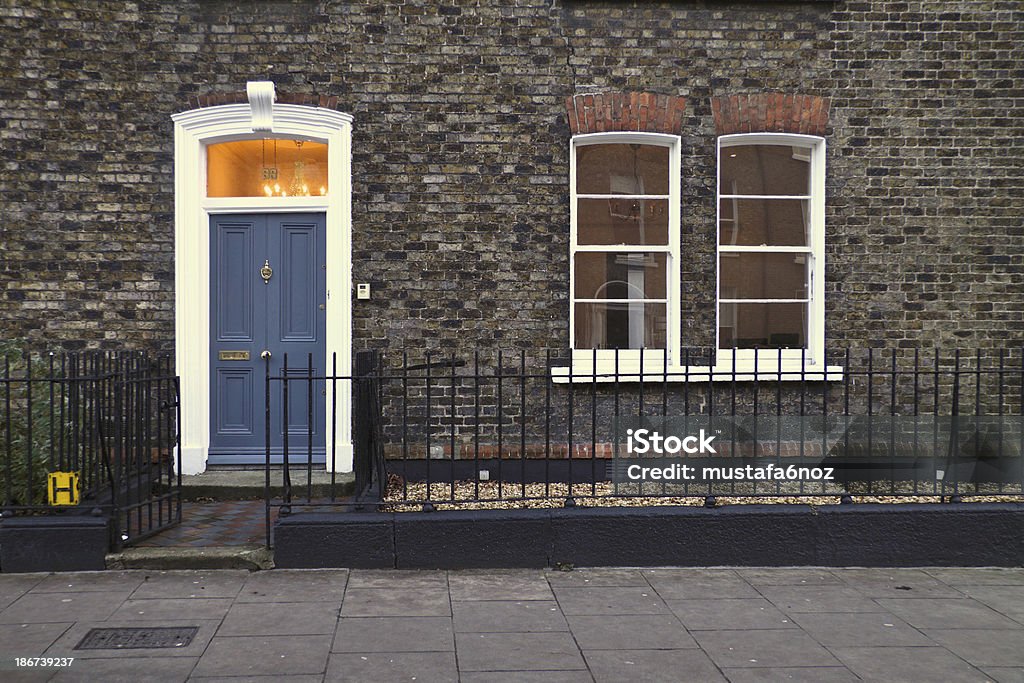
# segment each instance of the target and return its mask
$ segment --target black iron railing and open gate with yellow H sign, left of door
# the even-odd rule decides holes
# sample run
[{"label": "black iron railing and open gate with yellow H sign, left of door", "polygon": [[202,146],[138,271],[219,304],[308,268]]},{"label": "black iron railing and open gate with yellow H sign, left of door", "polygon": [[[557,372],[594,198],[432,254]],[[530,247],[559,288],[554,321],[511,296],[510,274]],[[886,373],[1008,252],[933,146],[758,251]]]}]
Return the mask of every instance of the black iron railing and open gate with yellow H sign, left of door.
[{"label": "black iron railing and open gate with yellow H sign, left of door", "polygon": [[[181,521],[179,389],[170,357],[5,353],[0,362],[4,517],[108,516],[114,549]],[[54,499],[52,472],[73,475],[77,496]]]}]

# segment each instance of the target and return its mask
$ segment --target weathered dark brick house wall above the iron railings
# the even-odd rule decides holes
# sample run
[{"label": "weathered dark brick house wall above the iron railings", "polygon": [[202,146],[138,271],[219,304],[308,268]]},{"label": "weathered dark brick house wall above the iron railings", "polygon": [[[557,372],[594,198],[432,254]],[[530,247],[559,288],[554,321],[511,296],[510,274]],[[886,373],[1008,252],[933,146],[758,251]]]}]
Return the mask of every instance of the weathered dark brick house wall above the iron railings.
[{"label": "weathered dark brick house wall above the iron railings", "polygon": [[[566,98],[684,98],[683,341],[714,339],[713,97],[830,103],[829,345],[1024,341],[1024,10],[259,0],[0,7],[0,333],[173,347],[170,115],[355,117],[355,345],[567,343]],[[334,100],[328,100],[333,103]]]}]

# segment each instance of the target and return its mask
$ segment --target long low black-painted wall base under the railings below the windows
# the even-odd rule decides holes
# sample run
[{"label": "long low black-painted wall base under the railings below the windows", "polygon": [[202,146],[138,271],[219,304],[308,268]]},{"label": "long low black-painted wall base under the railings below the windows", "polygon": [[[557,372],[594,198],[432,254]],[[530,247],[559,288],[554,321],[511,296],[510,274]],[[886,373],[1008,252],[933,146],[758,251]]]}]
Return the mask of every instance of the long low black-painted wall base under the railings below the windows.
[{"label": "long low black-painted wall base under the railings below the windows", "polygon": [[1022,566],[1024,505],[301,513],[279,567]]}]

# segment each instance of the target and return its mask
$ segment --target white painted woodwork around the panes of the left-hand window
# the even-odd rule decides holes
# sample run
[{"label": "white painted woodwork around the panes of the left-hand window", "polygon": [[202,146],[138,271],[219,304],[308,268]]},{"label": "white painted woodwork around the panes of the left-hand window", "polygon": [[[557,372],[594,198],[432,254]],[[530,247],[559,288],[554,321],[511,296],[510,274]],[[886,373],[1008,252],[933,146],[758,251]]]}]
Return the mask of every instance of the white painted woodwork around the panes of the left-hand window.
[{"label": "white painted woodwork around the panes of the left-hand window", "polygon": [[[594,351],[592,349],[575,348],[575,303],[585,303],[586,299],[575,297],[575,254],[578,253],[600,253],[600,252],[642,252],[642,253],[665,253],[668,255],[668,282],[666,283],[666,306],[667,331],[666,348],[644,349],[644,365],[648,370],[653,368],[664,368],[665,355],[668,353],[670,362],[673,358],[679,357],[679,345],[681,338],[680,319],[680,233],[679,216],[681,211],[680,195],[680,166],[681,140],[679,135],[668,135],[665,133],[640,133],[640,132],[610,132],[610,133],[587,133],[574,135],[569,140],[569,349],[572,355],[572,367],[584,364],[593,368]],[[653,144],[669,148],[669,194],[668,195],[616,195],[616,199],[641,198],[669,200],[669,244],[668,246],[650,247],[622,247],[618,245],[585,245],[581,246],[577,236],[577,202],[581,199],[607,199],[606,195],[577,194],[577,167],[575,150],[578,146],[589,144]],[[657,303],[658,299],[645,299],[645,302]],[[615,350],[601,349],[597,351],[598,362],[603,359],[605,362],[613,358]],[[641,353],[639,349],[625,349],[618,351],[620,361],[632,361],[638,364]],[[582,367],[582,366],[581,366]],[[600,367],[600,366],[599,366]],[[556,380],[557,381],[557,380]]]}]

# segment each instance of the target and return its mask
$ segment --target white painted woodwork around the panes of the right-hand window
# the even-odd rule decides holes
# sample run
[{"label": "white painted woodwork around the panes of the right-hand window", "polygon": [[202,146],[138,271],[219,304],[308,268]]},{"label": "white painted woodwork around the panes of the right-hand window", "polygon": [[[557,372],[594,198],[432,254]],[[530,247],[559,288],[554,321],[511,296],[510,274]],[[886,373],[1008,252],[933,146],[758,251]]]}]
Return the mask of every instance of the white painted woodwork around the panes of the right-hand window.
[{"label": "white painted woodwork around the panes of the right-hand window", "polygon": [[[811,234],[810,244],[807,247],[752,248],[721,244],[721,230],[719,229],[719,224],[721,223],[721,216],[719,215],[722,208],[721,200],[723,198],[752,199],[755,197],[761,197],[753,195],[723,195],[719,193],[722,186],[722,150],[740,144],[777,144],[799,146],[810,151],[811,186],[810,195],[806,199],[809,199],[810,201]],[[721,304],[732,302],[732,300],[726,301],[721,298],[722,273],[721,268],[718,267],[719,254],[750,251],[763,253],[805,252],[808,253],[811,258],[811,266],[808,269],[808,278],[810,278],[810,303],[807,307],[807,347],[805,349],[784,349],[782,351],[782,360],[783,367],[786,362],[796,364],[797,372],[800,372],[801,358],[804,357],[804,354],[806,354],[806,366],[812,368],[814,372],[818,373],[818,375],[821,375],[820,368],[821,364],[824,362],[825,357],[825,140],[817,135],[798,135],[793,133],[737,133],[735,135],[722,135],[718,138],[715,158],[715,348],[717,350],[717,367],[726,369],[731,377],[733,364],[735,362],[737,369],[739,370],[757,372],[759,379],[761,379],[762,371],[764,371],[764,375],[766,375],[764,379],[772,379],[771,368],[769,368],[766,364],[774,362],[772,368],[775,368],[774,376],[778,379],[778,362],[776,357],[778,352],[774,349],[761,350],[757,355],[758,368],[755,369],[755,352],[753,349],[737,349],[733,351],[732,349],[723,349],[719,346],[721,340],[719,339],[720,326],[718,322],[721,316]],[[763,197],[770,199],[805,199],[804,197]],[[793,302],[799,303],[800,300],[794,299]],[[757,303],[757,301],[751,300],[750,303]],[[834,369],[829,367],[825,373],[825,377],[822,379],[828,379],[829,381],[833,380],[833,370]],[[798,376],[796,379],[802,379],[802,376]]]}]

